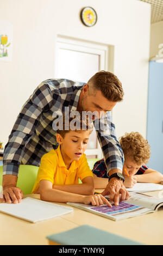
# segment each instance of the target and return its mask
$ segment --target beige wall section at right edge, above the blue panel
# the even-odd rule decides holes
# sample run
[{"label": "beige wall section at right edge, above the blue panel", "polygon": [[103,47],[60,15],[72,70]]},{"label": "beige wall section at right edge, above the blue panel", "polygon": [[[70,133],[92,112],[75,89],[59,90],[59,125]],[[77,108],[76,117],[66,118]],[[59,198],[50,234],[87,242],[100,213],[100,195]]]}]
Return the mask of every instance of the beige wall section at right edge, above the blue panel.
[{"label": "beige wall section at right edge, above the blue panel", "polygon": [[163,21],[151,25],[150,57],[159,54],[159,44],[163,44]]}]

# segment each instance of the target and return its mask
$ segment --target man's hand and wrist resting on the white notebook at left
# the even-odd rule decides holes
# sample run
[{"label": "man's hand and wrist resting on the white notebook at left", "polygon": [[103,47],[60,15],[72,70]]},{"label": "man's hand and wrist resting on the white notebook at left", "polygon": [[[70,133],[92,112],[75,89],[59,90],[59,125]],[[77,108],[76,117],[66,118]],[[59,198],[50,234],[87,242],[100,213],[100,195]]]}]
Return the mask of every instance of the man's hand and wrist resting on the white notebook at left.
[{"label": "man's hand and wrist resting on the white notebook at left", "polygon": [[3,198],[0,199],[0,203],[21,203],[21,199],[23,198],[23,192],[19,187],[16,187],[16,182],[17,176],[3,175]]}]

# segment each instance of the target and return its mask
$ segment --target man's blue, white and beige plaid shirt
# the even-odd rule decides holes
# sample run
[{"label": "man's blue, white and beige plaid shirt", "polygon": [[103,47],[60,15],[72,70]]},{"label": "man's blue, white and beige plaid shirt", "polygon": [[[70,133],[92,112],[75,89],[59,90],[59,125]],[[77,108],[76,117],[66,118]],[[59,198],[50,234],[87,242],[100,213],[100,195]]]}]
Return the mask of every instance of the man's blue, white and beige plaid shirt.
[{"label": "man's blue, white and beige plaid shirt", "polygon": [[[5,145],[3,175],[18,175],[20,164],[39,166],[44,154],[58,148],[57,131],[52,127],[53,113],[64,113],[65,107],[69,107],[69,111],[76,111],[84,84],[65,79],[49,79],[35,89],[18,114]],[[96,131],[105,163],[108,172],[115,168],[122,170],[123,151],[115,136],[111,112],[107,113],[107,123],[108,133],[100,129]]]}]

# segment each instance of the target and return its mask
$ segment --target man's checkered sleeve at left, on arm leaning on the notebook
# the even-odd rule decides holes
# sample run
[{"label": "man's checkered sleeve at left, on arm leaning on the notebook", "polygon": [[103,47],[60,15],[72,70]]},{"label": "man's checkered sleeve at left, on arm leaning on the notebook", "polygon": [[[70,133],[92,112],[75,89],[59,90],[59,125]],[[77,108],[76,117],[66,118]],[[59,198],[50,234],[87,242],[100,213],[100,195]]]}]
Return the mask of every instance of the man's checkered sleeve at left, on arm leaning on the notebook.
[{"label": "man's checkered sleeve at left, on arm leaning on the notebook", "polygon": [[32,136],[41,113],[49,109],[52,100],[51,89],[42,82],[24,103],[5,145],[3,175],[18,175],[24,147]]}]

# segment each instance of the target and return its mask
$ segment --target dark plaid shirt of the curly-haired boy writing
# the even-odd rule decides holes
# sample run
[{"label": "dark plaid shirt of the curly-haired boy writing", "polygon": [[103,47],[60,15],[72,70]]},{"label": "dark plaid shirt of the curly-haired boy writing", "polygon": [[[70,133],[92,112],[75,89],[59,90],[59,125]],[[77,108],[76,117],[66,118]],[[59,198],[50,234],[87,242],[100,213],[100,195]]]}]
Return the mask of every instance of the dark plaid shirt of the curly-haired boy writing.
[{"label": "dark plaid shirt of the curly-haired boy writing", "polygon": [[[147,170],[147,166],[142,166],[135,175],[143,174],[145,170]],[[109,175],[107,173],[107,167],[105,165],[104,159],[98,160],[92,169],[92,172],[100,178],[109,178]]]}]

